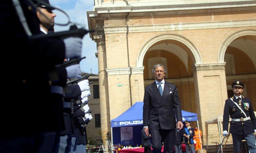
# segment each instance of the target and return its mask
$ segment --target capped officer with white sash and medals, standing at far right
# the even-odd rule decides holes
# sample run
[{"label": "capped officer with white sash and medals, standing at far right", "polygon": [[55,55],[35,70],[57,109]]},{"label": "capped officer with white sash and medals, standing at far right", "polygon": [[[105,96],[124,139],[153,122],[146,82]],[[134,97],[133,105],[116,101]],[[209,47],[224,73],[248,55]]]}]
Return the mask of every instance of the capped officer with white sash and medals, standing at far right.
[{"label": "capped officer with white sash and medals, standing at far right", "polygon": [[[256,118],[253,112],[251,100],[242,96],[244,84],[236,80],[232,83],[234,96],[227,99],[223,114],[223,135],[228,137],[232,134],[234,153],[241,153],[242,138],[246,140],[248,150],[256,153],[255,131]],[[229,133],[228,122],[231,118]]]}]

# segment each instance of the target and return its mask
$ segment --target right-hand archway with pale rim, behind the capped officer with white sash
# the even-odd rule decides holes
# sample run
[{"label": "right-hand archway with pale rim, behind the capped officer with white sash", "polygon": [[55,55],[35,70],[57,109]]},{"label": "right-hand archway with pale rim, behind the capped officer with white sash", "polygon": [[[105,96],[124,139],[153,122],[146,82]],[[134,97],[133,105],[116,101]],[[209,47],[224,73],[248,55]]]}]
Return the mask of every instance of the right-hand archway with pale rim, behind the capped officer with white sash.
[{"label": "right-hand archway with pale rim, behind the capped officer with white sash", "polygon": [[[231,84],[234,80],[241,80],[245,84],[244,96],[251,99],[256,108],[256,31],[241,31],[231,35],[222,46],[218,60],[226,62],[226,82],[228,97],[233,95]],[[219,53],[219,55],[220,55]]]}]

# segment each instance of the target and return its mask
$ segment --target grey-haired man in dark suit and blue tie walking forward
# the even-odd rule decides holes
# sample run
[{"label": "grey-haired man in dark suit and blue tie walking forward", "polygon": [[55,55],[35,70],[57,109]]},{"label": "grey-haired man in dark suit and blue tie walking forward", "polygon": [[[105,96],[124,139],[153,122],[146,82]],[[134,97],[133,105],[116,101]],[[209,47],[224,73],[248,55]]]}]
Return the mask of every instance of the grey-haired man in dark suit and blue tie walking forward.
[{"label": "grey-haired man in dark suit and blue tie walking forward", "polygon": [[153,153],[161,152],[161,140],[164,142],[163,152],[171,153],[176,120],[178,128],[183,128],[180,99],[176,86],[163,79],[166,74],[163,65],[155,65],[152,73],[156,80],[145,88],[143,100],[144,132],[147,136],[151,133]]}]

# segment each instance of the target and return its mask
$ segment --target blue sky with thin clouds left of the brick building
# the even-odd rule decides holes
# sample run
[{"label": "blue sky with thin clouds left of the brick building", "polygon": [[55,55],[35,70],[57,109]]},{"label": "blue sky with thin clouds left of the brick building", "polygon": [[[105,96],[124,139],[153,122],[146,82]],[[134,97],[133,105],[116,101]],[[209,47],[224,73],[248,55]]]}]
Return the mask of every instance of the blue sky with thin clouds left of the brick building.
[{"label": "blue sky with thin clouds left of the brick building", "polygon": [[[86,11],[93,11],[94,0],[49,0],[52,6],[60,8],[66,12],[70,18],[70,21],[79,24],[88,30],[88,21]],[[55,17],[55,23],[67,23],[68,18],[62,12],[58,10],[53,11],[57,16]],[[69,26],[58,26],[55,24],[55,32],[69,30]],[[80,68],[82,72],[98,74],[98,58],[95,53],[97,52],[96,43],[86,34],[82,40],[82,57],[86,56],[80,62]]]}]

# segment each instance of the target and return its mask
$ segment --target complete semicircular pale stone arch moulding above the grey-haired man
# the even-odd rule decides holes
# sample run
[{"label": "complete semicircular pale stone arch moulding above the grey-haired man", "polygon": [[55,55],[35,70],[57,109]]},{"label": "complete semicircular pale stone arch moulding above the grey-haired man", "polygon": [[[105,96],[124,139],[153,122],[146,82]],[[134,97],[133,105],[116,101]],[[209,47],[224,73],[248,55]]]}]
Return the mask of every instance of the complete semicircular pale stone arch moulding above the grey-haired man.
[{"label": "complete semicircular pale stone arch moulding above the grey-haired man", "polygon": [[143,44],[143,46],[141,47],[139,54],[137,56],[136,67],[143,66],[143,58],[144,58],[147,50],[152,45],[154,45],[158,41],[167,40],[167,39],[177,40],[177,41],[180,41],[181,43],[185,44],[193,53],[195,60],[196,60],[196,64],[202,64],[202,57],[201,57],[198,49],[187,38],[180,36],[180,35],[175,35],[175,34],[160,34],[160,35],[156,35],[156,36],[150,38]]}]

